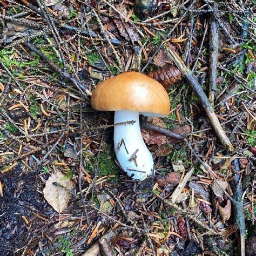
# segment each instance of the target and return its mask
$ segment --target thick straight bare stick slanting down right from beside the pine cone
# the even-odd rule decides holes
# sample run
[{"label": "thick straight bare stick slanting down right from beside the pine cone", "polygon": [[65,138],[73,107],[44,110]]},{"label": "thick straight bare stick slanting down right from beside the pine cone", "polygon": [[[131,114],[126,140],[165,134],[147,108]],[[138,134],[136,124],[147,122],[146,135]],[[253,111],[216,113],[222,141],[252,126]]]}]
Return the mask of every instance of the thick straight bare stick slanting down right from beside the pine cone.
[{"label": "thick straight bare stick slanting down right from beside the pine cone", "polygon": [[218,138],[220,139],[221,143],[227,147],[228,150],[232,151],[234,149],[230,139],[228,139],[225,131],[223,130],[223,127],[221,127],[219,119],[217,118],[216,114],[214,113],[214,109],[209,102],[204,90],[200,86],[196,76],[193,75],[190,69],[188,69],[185,64],[183,63],[183,60],[180,59],[180,57],[177,55],[177,53],[170,48],[169,44],[165,44],[165,49],[169,56],[172,58],[173,62],[177,65],[183,76],[190,82],[190,85],[194,92],[196,93],[198,99],[201,102],[201,105],[203,106],[203,109],[210,120],[210,123],[213,127],[213,130],[217,134]]}]

